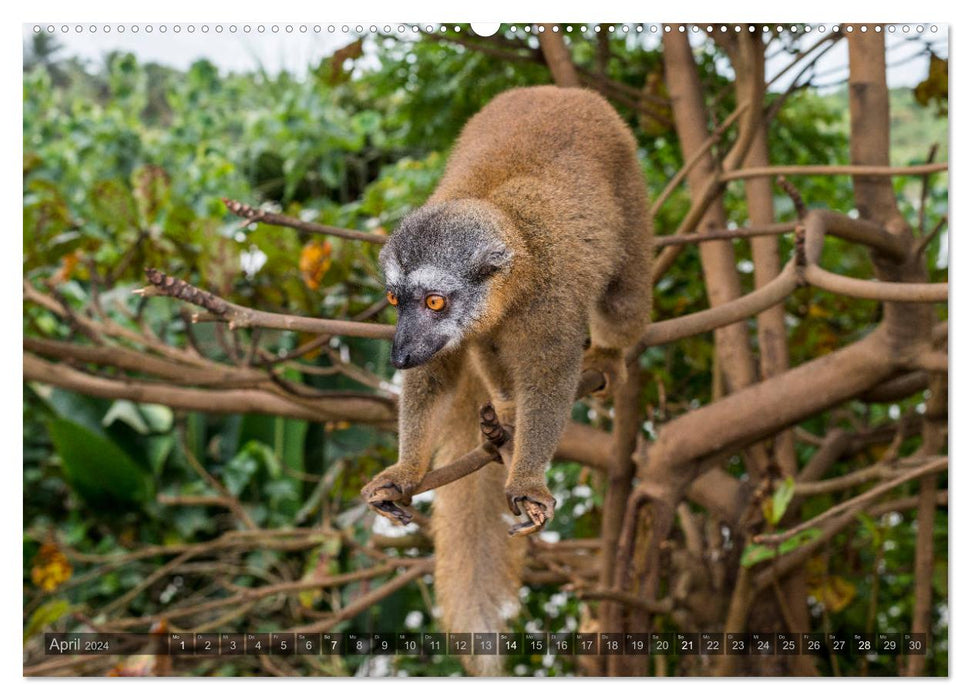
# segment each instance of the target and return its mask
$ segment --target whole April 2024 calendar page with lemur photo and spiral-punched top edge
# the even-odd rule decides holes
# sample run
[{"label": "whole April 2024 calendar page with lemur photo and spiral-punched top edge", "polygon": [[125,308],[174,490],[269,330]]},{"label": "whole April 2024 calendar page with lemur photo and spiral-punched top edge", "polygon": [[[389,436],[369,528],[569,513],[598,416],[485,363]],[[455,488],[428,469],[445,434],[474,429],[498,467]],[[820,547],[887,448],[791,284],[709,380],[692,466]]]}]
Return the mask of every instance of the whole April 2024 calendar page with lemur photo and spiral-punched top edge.
[{"label": "whole April 2024 calendar page with lemur photo and spiral-punched top edge", "polygon": [[950,28],[637,14],[23,25],[23,675],[948,676]]}]

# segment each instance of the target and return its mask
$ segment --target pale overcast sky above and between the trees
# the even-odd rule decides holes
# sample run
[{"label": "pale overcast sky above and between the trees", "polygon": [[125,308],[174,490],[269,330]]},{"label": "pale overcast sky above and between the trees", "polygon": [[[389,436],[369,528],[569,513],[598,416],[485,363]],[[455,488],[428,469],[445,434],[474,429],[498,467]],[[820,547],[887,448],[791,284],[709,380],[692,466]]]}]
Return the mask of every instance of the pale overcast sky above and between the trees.
[{"label": "pale overcast sky above and between the trees", "polygon": [[[488,31],[488,25],[484,26]],[[588,25],[588,33],[591,33],[591,26]],[[613,26],[617,31],[621,31],[624,25]],[[626,26],[633,31],[637,25]],[[660,43],[660,33],[651,33],[651,27],[659,25],[641,26],[644,27],[645,41],[648,46]],[[820,26],[825,31],[829,31],[832,27],[832,25],[813,25],[813,30],[800,39],[800,45],[808,47],[823,36],[825,31],[819,32]],[[922,43],[930,43],[938,55],[946,57],[948,26],[944,24],[893,26],[895,31],[887,34],[888,81],[891,87],[913,87],[927,75],[927,56],[917,56],[921,53]],[[904,31],[905,26],[909,31]],[[109,29],[107,32],[106,27]],[[372,27],[390,31],[397,31],[402,27],[406,36],[414,35],[410,26],[403,25],[254,22],[248,24],[25,24],[23,36],[26,43],[35,28],[39,28],[40,31],[49,31],[52,28],[64,47],[62,56],[78,56],[90,61],[92,65],[100,64],[103,57],[111,51],[124,50],[135,53],[142,61],[153,61],[182,69],[199,58],[208,58],[226,71],[248,71],[263,67],[271,73],[287,70],[302,75],[306,73],[309,66],[353,41],[359,35],[356,32],[367,33]],[[922,31],[918,32],[917,27]],[[716,25],[717,28],[720,28],[720,25]],[[728,29],[731,31],[734,26],[729,25]],[[914,37],[919,37],[919,40],[914,41]],[[693,39],[696,43],[703,41],[704,32],[693,34]],[[767,75],[774,76],[789,60],[789,57],[783,54],[770,57],[767,63]],[[845,77],[847,61],[846,42],[840,42],[820,61],[818,70],[826,74],[820,82],[829,83]],[[797,72],[792,71],[786,75],[776,87],[784,89],[787,81],[792,80]]]}]

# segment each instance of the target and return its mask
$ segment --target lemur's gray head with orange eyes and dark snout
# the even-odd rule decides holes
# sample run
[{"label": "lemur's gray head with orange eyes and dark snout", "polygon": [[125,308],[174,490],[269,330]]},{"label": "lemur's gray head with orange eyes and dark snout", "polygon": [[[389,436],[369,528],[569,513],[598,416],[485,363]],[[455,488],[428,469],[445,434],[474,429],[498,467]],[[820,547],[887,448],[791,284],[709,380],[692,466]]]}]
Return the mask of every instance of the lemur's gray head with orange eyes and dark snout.
[{"label": "lemur's gray head with orange eyes and dark snout", "polygon": [[511,258],[475,207],[448,203],[407,217],[380,255],[388,300],[398,309],[391,364],[417,367],[458,346],[484,312],[491,278]]}]

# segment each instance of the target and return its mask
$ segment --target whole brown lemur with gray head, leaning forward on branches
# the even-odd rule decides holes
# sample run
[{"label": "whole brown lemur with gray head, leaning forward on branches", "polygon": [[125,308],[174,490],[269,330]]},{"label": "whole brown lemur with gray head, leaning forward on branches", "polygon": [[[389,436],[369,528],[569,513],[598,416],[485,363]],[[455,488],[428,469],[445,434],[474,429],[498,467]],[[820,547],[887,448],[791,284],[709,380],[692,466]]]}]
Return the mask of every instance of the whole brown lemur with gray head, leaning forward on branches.
[{"label": "whole brown lemur with gray head, leaning forward on branches", "polygon": [[[513,427],[512,463],[438,489],[435,588],[446,629],[499,631],[518,608],[523,538],[553,516],[544,472],[583,368],[624,381],[651,312],[651,225],[636,143],[594,92],[532,87],[465,125],[428,202],[381,251],[404,370],[397,464],[362,490],[397,522],[432,466],[478,445],[479,407]],[[589,335],[590,348],[584,353]],[[509,516],[507,515],[507,518]],[[469,657],[479,673],[501,657]]]}]

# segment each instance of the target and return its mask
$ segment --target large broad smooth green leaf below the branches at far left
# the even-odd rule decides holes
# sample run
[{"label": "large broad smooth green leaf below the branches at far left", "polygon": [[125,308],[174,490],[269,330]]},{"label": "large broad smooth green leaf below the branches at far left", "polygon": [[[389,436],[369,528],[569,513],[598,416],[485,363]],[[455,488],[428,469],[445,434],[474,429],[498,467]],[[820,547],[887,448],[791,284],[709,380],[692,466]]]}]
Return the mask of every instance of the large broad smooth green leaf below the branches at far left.
[{"label": "large broad smooth green leaf below the branches at far left", "polygon": [[61,418],[49,423],[48,432],[64,478],[89,505],[132,506],[152,498],[151,477],[112,441]]}]

